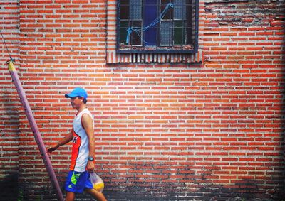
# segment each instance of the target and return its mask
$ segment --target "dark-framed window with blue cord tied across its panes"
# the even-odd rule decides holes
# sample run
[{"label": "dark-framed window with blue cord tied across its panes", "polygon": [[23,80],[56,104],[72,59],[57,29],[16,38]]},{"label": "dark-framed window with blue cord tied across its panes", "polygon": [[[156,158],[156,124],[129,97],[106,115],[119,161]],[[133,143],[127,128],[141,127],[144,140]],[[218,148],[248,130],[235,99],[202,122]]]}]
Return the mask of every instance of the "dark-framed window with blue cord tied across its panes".
[{"label": "dark-framed window with blue cord tied across its panes", "polygon": [[196,53],[198,0],[120,0],[120,53]]}]

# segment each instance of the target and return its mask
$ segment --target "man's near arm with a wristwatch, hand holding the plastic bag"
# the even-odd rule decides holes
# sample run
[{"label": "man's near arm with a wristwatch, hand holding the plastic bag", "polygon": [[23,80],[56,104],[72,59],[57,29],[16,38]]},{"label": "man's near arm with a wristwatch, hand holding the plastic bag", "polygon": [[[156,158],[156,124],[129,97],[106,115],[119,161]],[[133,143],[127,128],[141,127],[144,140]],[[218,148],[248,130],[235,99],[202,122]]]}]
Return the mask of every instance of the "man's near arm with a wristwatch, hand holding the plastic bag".
[{"label": "man's near arm with a wristwatch, hand holding the plastic bag", "polygon": [[[89,156],[94,157],[94,149],[95,149],[95,143],[94,143],[94,128],[93,128],[93,120],[88,114],[83,114],[82,116],[82,124],[86,131],[86,134],[88,136],[89,140]],[[89,172],[92,172],[95,168],[94,161],[89,161],[87,163],[87,170]]]}]

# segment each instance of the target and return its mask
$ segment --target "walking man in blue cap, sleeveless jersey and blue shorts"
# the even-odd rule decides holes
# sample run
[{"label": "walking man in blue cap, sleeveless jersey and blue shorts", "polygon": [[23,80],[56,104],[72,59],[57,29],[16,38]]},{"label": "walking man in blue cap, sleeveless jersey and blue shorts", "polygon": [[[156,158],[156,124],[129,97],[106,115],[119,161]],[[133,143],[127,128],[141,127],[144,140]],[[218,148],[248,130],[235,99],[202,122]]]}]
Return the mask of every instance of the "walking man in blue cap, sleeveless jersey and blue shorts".
[{"label": "walking man in blue cap, sleeveless jersey and blue shorts", "polygon": [[73,120],[73,129],[70,134],[58,143],[48,148],[48,153],[55,151],[60,146],[73,141],[71,166],[66,178],[66,201],[73,201],[76,193],[88,192],[98,201],[106,201],[102,192],[93,189],[90,183],[89,172],[95,168],[94,165],[94,136],[93,117],[86,107],[87,92],[82,88],[75,88],[70,94],[65,94],[71,99],[71,106],[77,110]]}]

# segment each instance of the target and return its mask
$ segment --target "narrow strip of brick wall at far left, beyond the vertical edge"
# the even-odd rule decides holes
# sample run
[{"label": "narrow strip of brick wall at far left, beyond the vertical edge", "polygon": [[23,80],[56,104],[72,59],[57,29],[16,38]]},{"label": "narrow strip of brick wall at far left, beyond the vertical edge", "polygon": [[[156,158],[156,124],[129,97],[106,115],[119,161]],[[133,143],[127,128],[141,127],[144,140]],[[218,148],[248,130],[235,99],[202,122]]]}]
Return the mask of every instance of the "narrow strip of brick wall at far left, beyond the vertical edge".
[{"label": "narrow strip of brick wall at far left, beyond the vertical edge", "polygon": [[[0,30],[6,38],[10,54],[19,59],[19,6],[17,1],[1,1]],[[0,36],[1,37],[1,36]],[[19,163],[19,99],[11,85],[9,71],[4,63],[9,60],[6,47],[0,39],[0,200],[16,200]]]}]

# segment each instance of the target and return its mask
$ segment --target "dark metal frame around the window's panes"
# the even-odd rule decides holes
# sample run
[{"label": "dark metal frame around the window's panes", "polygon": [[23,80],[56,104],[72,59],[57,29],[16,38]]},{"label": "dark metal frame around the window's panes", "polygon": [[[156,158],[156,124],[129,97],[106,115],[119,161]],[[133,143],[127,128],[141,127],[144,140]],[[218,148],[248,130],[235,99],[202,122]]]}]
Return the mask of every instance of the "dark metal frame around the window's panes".
[{"label": "dark metal frame around the window's panes", "polygon": [[[144,1],[144,0],[142,0]],[[122,49],[120,48],[120,0],[117,0],[117,16],[116,16],[116,52],[117,53],[197,53],[198,51],[198,30],[199,30],[199,0],[195,0],[195,31],[194,31],[194,43],[192,50],[181,50],[181,49],[160,49],[160,46],[156,46],[158,49]],[[143,11],[142,11],[143,13]],[[159,36],[160,37],[160,36]]]}]

